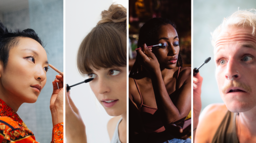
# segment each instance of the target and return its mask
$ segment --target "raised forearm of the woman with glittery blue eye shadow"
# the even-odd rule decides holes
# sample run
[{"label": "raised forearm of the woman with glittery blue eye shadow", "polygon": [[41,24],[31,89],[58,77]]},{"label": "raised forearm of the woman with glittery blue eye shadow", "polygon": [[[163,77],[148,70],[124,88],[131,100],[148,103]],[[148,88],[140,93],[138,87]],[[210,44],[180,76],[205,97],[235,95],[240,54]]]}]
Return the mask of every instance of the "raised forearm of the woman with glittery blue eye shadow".
[{"label": "raised forearm of the woman with glittery blue eye shadow", "polygon": [[161,118],[164,125],[173,123],[179,120],[180,112],[174,105],[173,101],[170,99],[165,84],[163,82],[161,71],[154,72],[151,74],[152,85],[154,89],[154,94],[156,98],[156,103],[158,110],[161,113]]}]

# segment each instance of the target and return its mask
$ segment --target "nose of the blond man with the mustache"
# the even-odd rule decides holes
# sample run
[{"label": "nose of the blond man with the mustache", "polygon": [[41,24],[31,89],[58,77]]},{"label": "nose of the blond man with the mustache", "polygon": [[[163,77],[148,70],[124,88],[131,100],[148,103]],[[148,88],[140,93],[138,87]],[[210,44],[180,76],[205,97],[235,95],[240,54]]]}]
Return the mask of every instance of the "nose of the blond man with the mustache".
[{"label": "nose of the blond man with the mustache", "polygon": [[225,71],[225,78],[228,80],[234,80],[241,77],[241,74],[239,73],[239,67],[236,61],[229,60],[227,62],[226,71]]}]

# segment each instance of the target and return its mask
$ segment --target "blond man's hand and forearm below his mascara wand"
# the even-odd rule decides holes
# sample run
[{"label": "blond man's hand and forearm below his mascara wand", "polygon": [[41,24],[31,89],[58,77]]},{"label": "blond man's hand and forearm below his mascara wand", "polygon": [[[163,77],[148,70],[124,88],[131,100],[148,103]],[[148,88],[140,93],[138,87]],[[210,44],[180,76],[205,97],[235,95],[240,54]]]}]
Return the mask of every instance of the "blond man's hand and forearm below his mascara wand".
[{"label": "blond man's hand and forearm below his mascara wand", "polygon": [[[201,102],[201,87],[202,87],[203,77],[200,76],[200,73],[197,73],[193,77],[193,120],[194,120],[194,129],[193,131],[196,131],[198,121],[199,121],[199,115],[202,108],[202,102]],[[194,132],[194,138],[195,138],[195,132]]]}]

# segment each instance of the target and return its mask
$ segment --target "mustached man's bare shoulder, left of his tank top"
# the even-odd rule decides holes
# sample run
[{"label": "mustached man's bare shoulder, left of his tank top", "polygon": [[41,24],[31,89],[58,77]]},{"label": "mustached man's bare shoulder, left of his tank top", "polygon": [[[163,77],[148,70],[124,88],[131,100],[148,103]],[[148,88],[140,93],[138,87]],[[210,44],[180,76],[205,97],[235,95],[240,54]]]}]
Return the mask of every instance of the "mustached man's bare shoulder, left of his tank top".
[{"label": "mustached man's bare shoulder, left of his tank top", "polygon": [[211,142],[226,112],[227,107],[224,103],[210,104],[205,107],[199,117],[195,142]]}]

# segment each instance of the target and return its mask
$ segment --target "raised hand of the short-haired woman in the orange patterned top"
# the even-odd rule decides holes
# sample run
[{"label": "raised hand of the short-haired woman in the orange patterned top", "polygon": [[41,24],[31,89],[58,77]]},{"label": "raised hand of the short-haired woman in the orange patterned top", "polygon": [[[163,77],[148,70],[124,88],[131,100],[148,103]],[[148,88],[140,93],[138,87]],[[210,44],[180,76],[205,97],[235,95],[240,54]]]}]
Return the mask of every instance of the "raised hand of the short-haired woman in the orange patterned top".
[{"label": "raised hand of the short-haired woman in the orange patterned top", "polygon": [[56,75],[52,85],[53,92],[50,100],[50,110],[52,113],[52,124],[55,126],[63,122],[63,76]]}]

